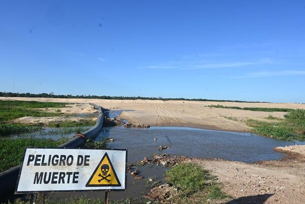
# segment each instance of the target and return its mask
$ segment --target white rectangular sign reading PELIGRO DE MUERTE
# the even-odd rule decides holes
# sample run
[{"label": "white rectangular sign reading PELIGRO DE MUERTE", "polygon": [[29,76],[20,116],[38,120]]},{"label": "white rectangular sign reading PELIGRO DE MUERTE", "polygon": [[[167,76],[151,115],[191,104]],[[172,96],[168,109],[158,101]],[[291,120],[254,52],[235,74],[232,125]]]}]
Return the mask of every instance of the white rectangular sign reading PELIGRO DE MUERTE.
[{"label": "white rectangular sign reading PELIGRO DE MUERTE", "polygon": [[126,189],[127,150],[27,148],[15,193]]}]

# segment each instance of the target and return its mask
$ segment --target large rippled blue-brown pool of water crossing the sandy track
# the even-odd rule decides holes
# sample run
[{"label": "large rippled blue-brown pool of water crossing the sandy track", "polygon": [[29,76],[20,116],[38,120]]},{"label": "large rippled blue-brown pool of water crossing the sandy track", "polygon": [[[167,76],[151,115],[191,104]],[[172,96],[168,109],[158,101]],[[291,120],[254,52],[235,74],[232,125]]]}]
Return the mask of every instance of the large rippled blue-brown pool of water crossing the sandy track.
[{"label": "large rippled blue-brown pool of water crossing the sandy track", "polygon": [[[221,158],[232,161],[256,162],[278,160],[285,154],[273,151],[278,146],[305,144],[250,133],[210,131],[185,127],[150,127],[148,129],[109,127],[104,128],[97,140],[114,138],[109,148],[128,149],[128,162],[137,162],[145,156],[167,153],[171,156],[196,158]],[[157,141],[154,140],[157,138]],[[169,146],[159,151],[158,147]]]}]

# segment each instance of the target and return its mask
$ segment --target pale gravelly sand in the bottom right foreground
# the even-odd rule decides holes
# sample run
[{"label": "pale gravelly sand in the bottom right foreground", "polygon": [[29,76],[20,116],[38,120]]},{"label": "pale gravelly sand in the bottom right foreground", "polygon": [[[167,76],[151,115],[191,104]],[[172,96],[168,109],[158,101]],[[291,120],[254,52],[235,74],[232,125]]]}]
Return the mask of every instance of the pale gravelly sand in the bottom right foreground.
[{"label": "pale gravelly sand in the bottom right foreground", "polygon": [[257,164],[220,159],[193,159],[223,184],[233,203],[305,203],[305,156],[288,153],[281,161]]}]

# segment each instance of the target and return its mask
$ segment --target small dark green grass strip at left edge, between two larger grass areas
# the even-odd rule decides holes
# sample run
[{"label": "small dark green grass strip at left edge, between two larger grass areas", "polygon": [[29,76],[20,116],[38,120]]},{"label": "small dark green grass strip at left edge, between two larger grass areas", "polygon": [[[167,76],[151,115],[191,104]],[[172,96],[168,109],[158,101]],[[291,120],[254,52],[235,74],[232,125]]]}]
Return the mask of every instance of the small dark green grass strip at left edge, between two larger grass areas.
[{"label": "small dark green grass strip at left edge, between two larger grass areas", "polygon": [[39,126],[26,126],[17,124],[0,124],[0,137],[10,134],[30,133],[40,130]]}]

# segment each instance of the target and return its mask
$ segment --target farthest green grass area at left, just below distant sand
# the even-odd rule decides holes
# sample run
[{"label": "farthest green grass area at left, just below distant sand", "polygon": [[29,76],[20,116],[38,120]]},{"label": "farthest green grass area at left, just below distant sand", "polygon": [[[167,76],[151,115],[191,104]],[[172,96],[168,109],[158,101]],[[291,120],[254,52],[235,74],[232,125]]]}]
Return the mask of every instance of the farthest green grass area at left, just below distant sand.
[{"label": "farthest green grass area at left, just below distant sand", "polygon": [[37,101],[6,101],[0,100],[0,122],[10,121],[24,116],[57,116],[60,112],[44,112],[37,108],[62,108],[67,103]]}]

